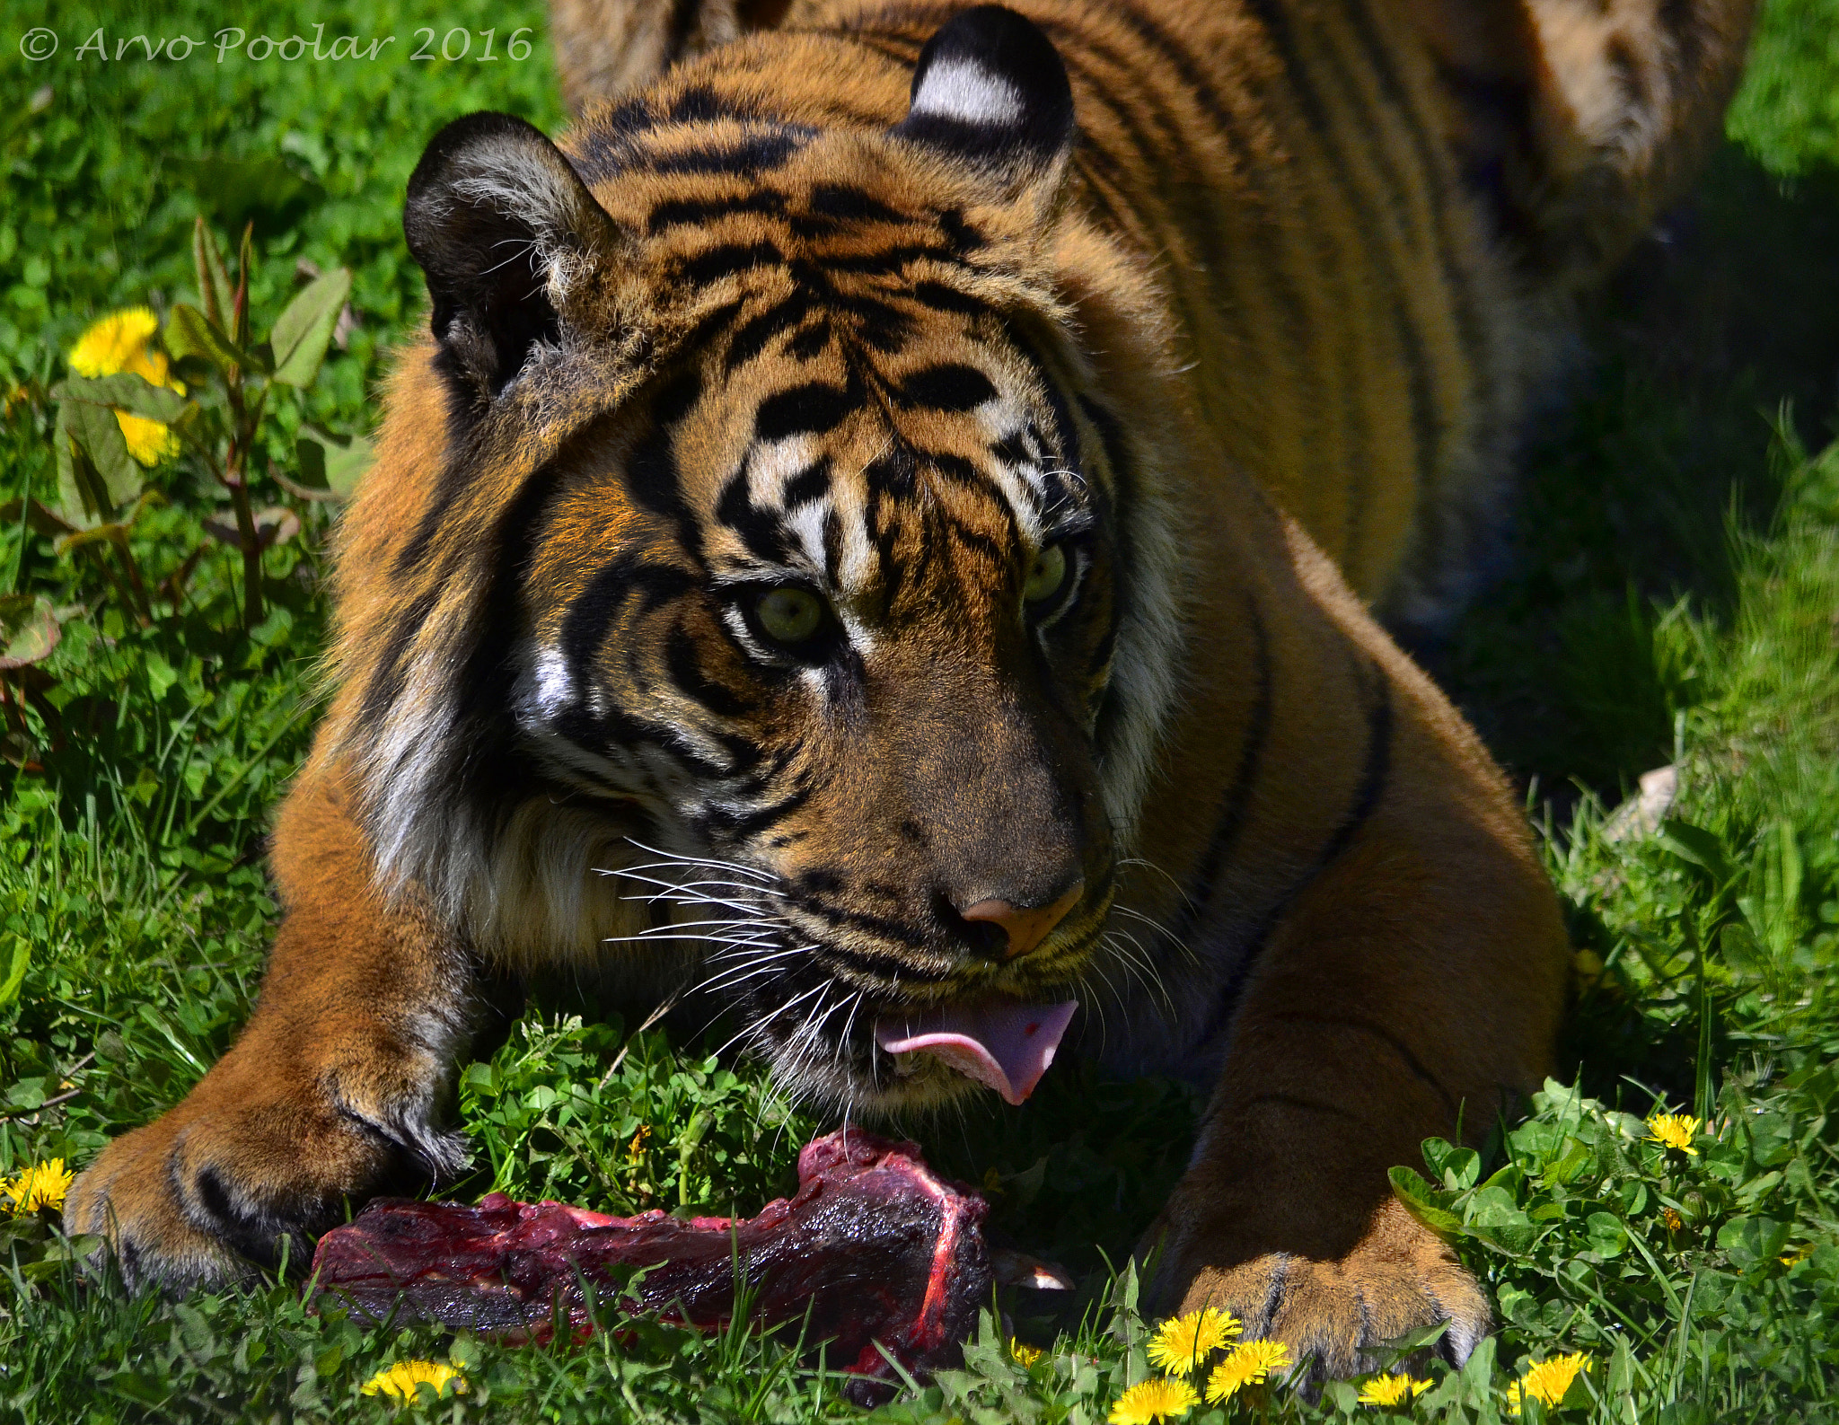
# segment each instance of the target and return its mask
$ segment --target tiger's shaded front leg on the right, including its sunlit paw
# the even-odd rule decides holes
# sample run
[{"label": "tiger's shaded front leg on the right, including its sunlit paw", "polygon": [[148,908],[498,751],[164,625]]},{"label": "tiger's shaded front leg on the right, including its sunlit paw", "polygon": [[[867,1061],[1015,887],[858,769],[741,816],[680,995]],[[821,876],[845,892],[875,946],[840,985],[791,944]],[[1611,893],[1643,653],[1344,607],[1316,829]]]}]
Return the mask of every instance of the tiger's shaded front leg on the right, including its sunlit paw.
[{"label": "tiger's shaded front leg on the right, including its sunlit paw", "polygon": [[1372,1370],[1374,1346],[1420,1326],[1447,1320],[1456,1362],[1488,1331],[1480,1285],[1388,1169],[1420,1166],[1429,1136],[1479,1142],[1548,1068],[1565,934],[1493,781],[1396,781],[1273,930],[1144,1243],[1159,1315],[1225,1307],[1315,1381]]}]

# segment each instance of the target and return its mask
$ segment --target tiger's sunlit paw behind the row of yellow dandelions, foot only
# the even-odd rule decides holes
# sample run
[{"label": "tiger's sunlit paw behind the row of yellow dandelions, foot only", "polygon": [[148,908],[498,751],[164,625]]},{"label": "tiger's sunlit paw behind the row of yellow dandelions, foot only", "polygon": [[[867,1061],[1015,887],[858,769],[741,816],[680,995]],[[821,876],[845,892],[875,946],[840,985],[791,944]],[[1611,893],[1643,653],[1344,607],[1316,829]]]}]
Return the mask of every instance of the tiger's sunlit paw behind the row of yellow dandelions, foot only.
[{"label": "tiger's sunlit paw behind the row of yellow dandelions, foot only", "polygon": [[1245,1340],[1282,1340],[1308,1361],[1311,1386],[1379,1368],[1377,1346],[1438,1322],[1449,1328],[1436,1353],[1462,1364],[1493,1324],[1480,1283],[1398,1203],[1381,1204],[1352,1250],[1331,1260],[1249,1254],[1239,1234],[1182,1232],[1177,1223],[1148,1298],[1157,1315],[1230,1311]]}]

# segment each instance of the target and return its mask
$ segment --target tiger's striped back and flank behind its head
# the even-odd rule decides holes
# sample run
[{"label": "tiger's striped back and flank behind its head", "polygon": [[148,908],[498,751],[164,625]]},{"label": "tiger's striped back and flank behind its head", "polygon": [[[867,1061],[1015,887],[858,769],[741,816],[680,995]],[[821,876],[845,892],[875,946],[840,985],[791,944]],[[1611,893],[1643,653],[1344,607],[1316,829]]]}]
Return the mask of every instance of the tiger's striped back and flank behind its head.
[{"label": "tiger's striped back and flank behind its head", "polygon": [[[552,9],[579,35],[557,55],[577,105],[631,83],[611,59],[594,70],[590,37],[622,6]],[[772,40],[750,46],[772,9]],[[888,123],[956,9],[717,0],[660,44],[730,40],[684,83],[771,94],[813,123]],[[1074,88],[1067,200],[1153,274],[1192,414],[1387,623],[1445,627],[1499,526],[1571,298],[1716,136],[1751,0],[1019,9]]]}]

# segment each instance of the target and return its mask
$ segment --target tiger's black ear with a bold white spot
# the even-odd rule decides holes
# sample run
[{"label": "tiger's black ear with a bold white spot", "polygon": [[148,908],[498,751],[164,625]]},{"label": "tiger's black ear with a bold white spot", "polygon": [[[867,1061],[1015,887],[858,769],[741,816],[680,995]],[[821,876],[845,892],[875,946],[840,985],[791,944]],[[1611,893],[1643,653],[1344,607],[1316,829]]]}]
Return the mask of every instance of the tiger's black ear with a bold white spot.
[{"label": "tiger's black ear with a bold white spot", "polygon": [[920,51],[907,118],[894,132],[975,164],[1006,197],[1021,197],[1057,180],[1072,153],[1067,66],[1013,9],[977,6]]}]

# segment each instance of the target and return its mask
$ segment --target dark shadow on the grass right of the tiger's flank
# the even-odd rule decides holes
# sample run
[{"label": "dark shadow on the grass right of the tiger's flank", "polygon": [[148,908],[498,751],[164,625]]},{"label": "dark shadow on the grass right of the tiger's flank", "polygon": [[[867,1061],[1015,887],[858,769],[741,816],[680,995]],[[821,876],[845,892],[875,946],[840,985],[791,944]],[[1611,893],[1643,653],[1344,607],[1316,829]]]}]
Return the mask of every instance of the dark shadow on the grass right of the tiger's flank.
[{"label": "dark shadow on the grass right of the tiger's flank", "polygon": [[1729,528],[1778,496],[1769,423],[1822,445],[1839,406],[1839,173],[1793,188],[1734,145],[1583,322],[1571,399],[1532,432],[1504,572],[1425,664],[1495,756],[1569,816],[1673,754],[1694,669],[1666,607],[1714,620]]}]

